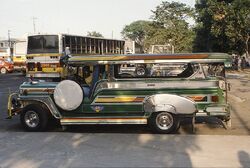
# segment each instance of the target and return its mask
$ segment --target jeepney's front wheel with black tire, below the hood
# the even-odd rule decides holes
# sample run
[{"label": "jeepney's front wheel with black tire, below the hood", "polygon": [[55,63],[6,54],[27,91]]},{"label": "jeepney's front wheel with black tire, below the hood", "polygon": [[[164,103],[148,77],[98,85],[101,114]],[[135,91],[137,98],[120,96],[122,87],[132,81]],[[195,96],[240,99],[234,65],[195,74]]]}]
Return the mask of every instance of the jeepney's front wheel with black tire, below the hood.
[{"label": "jeepney's front wheel with black tire, below the hood", "polygon": [[27,105],[20,115],[20,121],[27,131],[45,131],[48,126],[48,110],[39,104]]}]

